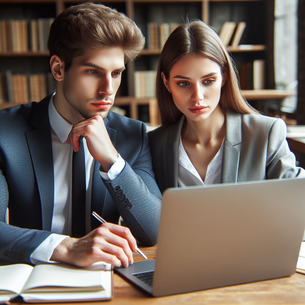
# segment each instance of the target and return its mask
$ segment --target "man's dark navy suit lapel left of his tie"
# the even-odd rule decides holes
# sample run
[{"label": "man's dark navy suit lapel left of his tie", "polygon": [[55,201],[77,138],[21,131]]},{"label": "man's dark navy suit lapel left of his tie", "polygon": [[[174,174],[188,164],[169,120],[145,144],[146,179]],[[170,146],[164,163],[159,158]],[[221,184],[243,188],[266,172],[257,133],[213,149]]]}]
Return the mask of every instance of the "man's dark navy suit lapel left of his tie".
[{"label": "man's dark navy suit lapel left of his tie", "polygon": [[34,106],[31,120],[34,129],[25,133],[41,200],[42,229],[47,231],[51,231],[54,207],[54,167],[48,117],[49,99],[50,95]]}]

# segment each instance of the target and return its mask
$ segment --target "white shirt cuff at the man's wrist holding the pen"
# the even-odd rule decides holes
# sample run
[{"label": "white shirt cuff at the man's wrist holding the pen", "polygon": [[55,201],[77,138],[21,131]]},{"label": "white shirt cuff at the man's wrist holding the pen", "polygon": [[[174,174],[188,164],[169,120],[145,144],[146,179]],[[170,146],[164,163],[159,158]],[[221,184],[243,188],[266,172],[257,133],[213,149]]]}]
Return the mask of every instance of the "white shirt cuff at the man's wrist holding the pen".
[{"label": "white shirt cuff at the man's wrist holding the pen", "polygon": [[50,260],[54,249],[67,237],[67,235],[51,234],[49,235],[31,254],[30,260],[33,264],[39,262],[57,263]]}]

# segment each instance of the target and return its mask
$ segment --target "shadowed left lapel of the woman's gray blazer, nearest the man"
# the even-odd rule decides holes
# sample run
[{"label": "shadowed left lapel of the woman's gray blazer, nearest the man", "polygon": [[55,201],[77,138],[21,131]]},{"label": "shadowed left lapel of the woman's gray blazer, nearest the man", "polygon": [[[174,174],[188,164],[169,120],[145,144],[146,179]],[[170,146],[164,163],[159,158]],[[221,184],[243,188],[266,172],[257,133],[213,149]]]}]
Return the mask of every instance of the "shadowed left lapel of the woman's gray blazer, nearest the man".
[{"label": "shadowed left lapel of the woman's gray blazer, nearest the man", "polygon": [[179,140],[184,119],[185,116],[182,115],[181,119],[171,126],[167,140],[168,147],[166,150],[166,159],[168,187],[178,187]]}]

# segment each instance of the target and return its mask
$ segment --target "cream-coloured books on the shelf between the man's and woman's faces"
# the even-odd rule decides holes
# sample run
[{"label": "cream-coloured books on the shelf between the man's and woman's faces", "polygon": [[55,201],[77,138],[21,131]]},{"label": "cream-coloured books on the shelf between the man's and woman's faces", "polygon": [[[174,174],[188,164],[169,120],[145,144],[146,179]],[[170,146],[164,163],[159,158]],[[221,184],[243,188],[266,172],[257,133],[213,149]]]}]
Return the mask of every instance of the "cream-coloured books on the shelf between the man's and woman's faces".
[{"label": "cream-coloured books on the shelf between the man's and woman's faces", "polygon": [[134,91],[136,98],[155,96],[157,71],[135,71]]}]

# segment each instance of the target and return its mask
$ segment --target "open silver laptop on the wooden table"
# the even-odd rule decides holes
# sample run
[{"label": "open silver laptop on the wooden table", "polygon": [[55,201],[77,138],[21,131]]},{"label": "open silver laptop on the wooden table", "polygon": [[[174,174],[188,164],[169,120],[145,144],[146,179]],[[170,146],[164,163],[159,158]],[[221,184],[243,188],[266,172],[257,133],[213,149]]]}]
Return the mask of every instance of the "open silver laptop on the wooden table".
[{"label": "open silver laptop on the wooden table", "polygon": [[305,178],[167,189],[156,260],[116,270],[153,296],[292,275],[304,198]]}]

